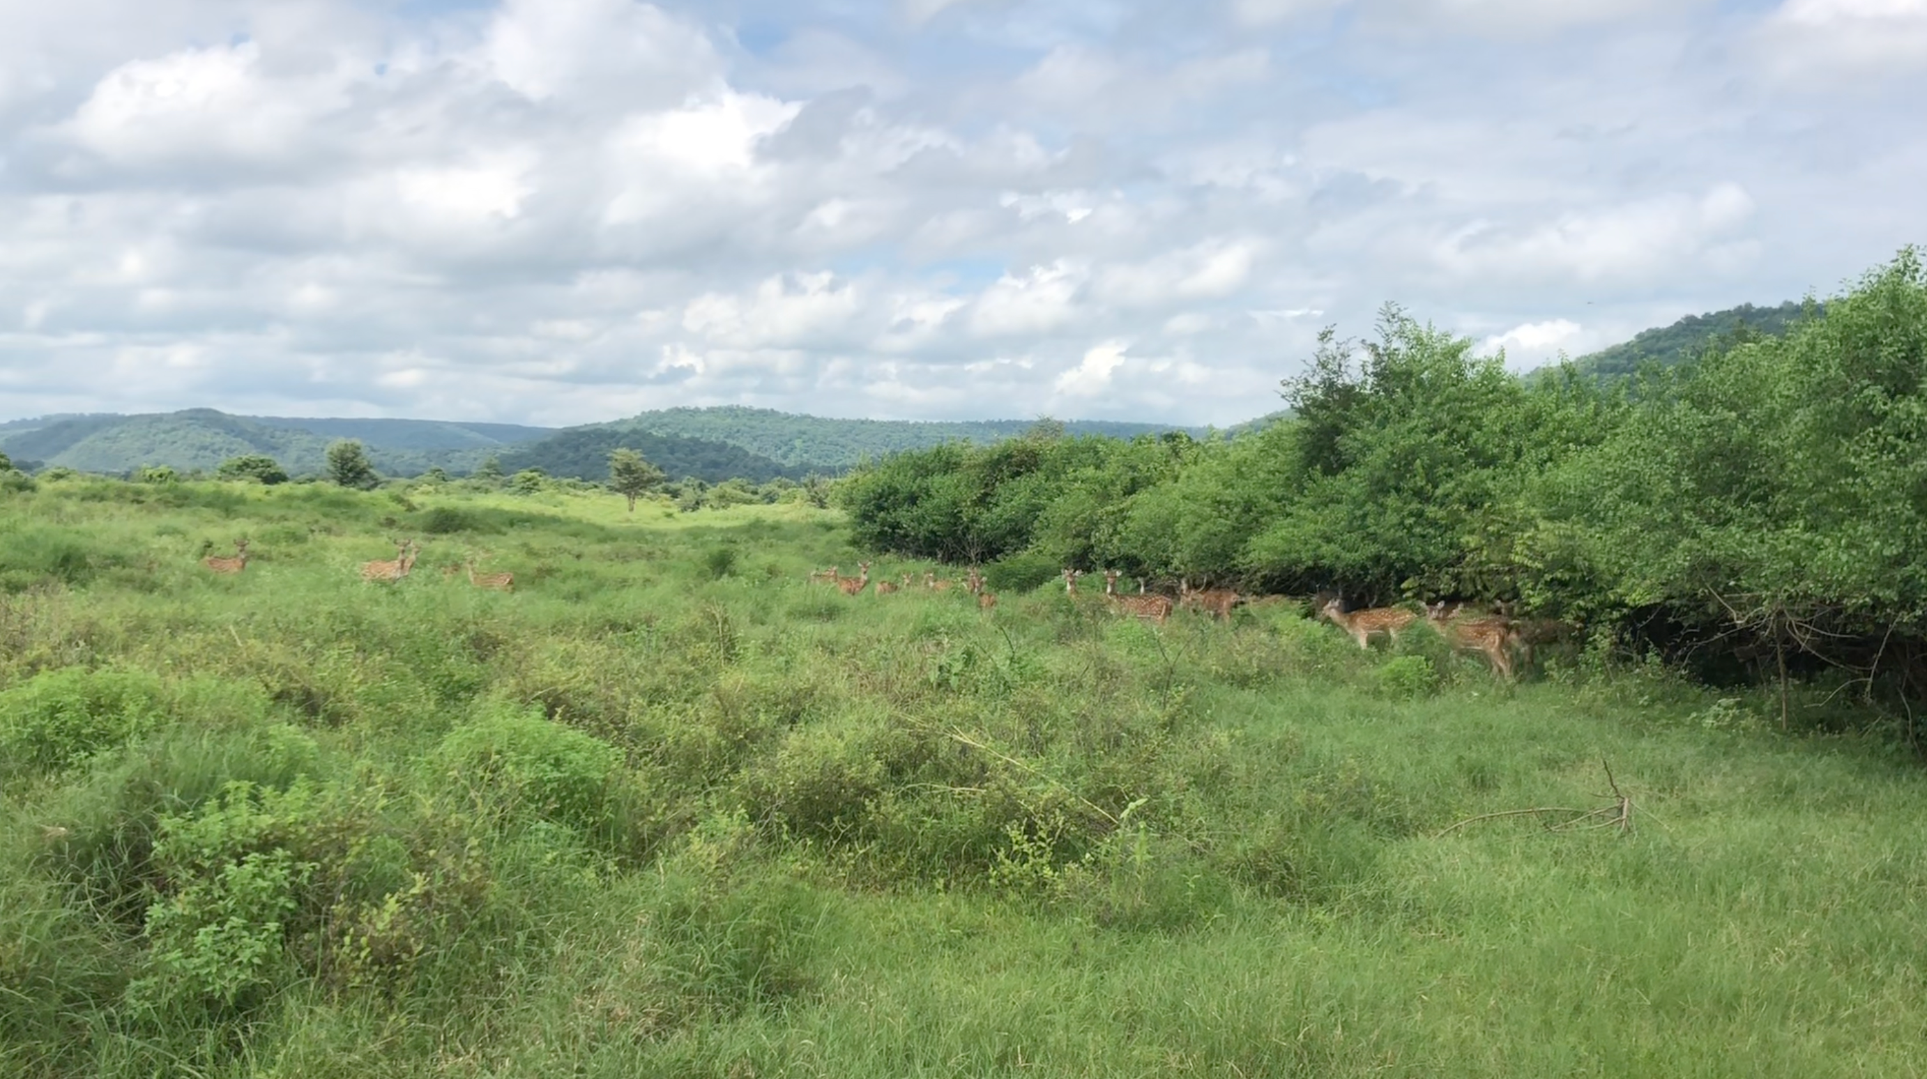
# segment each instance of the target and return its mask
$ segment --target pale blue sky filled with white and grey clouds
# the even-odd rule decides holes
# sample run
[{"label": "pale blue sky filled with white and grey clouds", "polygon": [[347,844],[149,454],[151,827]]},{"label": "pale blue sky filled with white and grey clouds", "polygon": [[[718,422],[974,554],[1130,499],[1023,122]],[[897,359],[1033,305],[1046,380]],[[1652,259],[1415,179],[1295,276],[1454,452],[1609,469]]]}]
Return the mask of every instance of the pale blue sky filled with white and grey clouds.
[{"label": "pale blue sky filled with white and grey clouds", "polygon": [[0,0],[0,420],[1231,424],[1927,241],[1927,0]]}]

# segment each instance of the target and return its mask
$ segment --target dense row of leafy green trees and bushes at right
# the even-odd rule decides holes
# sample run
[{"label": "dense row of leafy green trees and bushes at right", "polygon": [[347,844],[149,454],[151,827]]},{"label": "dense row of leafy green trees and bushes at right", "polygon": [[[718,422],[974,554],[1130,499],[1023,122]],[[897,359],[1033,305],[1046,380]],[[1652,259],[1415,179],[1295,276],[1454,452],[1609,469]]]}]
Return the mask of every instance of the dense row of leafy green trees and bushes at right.
[{"label": "dense row of leafy green trees and bushes at right", "polygon": [[1601,382],[1509,374],[1387,308],[1256,434],[1017,439],[852,476],[858,540],[950,561],[1509,599],[1709,665],[1927,678],[1927,281],[1915,249],[1784,335]]}]

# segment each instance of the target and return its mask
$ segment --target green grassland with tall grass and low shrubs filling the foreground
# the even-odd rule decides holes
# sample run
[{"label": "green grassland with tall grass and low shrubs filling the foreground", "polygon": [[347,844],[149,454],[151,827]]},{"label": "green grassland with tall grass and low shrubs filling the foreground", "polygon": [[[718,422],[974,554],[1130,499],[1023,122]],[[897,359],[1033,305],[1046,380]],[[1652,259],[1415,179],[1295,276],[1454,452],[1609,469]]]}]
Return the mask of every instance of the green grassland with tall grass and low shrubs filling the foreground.
[{"label": "green grassland with tall grass and low shrubs filling the foreground", "polygon": [[1846,696],[844,597],[807,507],[0,499],[0,1075],[1927,1071]]}]

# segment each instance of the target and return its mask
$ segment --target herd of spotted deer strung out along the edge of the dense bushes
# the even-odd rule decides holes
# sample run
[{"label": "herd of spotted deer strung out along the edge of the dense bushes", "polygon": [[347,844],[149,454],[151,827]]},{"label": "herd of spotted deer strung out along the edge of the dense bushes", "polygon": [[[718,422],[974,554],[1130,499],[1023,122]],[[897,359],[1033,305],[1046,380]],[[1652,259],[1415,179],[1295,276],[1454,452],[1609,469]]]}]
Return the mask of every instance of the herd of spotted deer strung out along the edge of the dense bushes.
[{"label": "herd of spotted deer strung out along the edge of the dense bushes", "polygon": [[[827,570],[815,570],[809,574],[811,582],[834,584],[844,595],[858,595],[871,586],[871,563],[858,565],[858,576],[842,576],[840,566],[831,566]],[[875,595],[892,595],[898,592],[915,590],[915,574],[902,574],[898,580],[877,580]],[[1064,568],[1064,593],[1071,599],[1077,597],[1077,582],[1085,576],[1085,570]],[[1191,580],[1177,582],[1177,597],[1172,599],[1162,592],[1150,592],[1148,582],[1139,578],[1137,592],[1118,592],[1118,570],[1104,570],[1104,603],[1108,609],[1122,617],[1141,618],[1145,622],[1164,624],[1172,611],[1193,609],[1210,615],[1216,620],[1229,620],[1231,611],[1241,603],[1251,603],[1251,595],[1243,595],[1231,588],[1193,588]],[[996,595],[992,595],[983,582],[983,574],[971,566],[964,578],[964,588],[977,597],[977,605],[985,611],[996,607]],[[940,580],[935,572],[923,572],[925,592],[944,592],[952,586],[950,580]],[[1368,607],[1362,611],[1345,611],[1341,599],[1330,599],[1318,607],[1318,617],[1345,630],[1353,642],[1362,649],[1372,647],[1372,638],[1384,636],[1393,645],[1399,642],[1399,634],[1412,628],[1420,620],[1426,622],[1451,651],[1478,653],[1491,663],[1491,669],[1503,678],[1511,680],[1517,671],[1517,659],[1524,655],[1526,663],[1532,661],[1532,645],[1545,644],[1549,640],[1561,638],[1572,630],[1565,622],[1555,622],[1547,618],[1515,618],[1501,609],[1493,613],[1474,613],[1465,603],[1428,603],[1424,613],[1411,611],[1407,607]]]}]

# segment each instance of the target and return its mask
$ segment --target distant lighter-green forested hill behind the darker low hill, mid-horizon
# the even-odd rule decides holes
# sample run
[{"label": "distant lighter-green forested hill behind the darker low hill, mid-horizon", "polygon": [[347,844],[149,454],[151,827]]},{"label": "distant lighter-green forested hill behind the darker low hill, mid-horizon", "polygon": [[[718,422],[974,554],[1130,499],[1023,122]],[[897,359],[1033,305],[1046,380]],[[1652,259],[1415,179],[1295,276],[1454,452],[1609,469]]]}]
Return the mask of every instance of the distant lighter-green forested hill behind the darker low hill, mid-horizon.
[{"label": "distant lighter-green forested hill behind the darker low hill, mid-horizon", "polygon": [[[1021,435],[1033,424],[1035,420],[831,420],[773,408],[719,407],[661,408],[630,420],[601,424],[601,428],[723,441],[788,468],[842,470],[865,457],[875,459],[946,441],[979,445],[1002,441]],[[1064,434],[1069,435],[1133,437],[1170,430],[1185,428],[1106,420],[1068,420],[1064,424]]]}]

